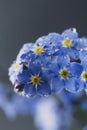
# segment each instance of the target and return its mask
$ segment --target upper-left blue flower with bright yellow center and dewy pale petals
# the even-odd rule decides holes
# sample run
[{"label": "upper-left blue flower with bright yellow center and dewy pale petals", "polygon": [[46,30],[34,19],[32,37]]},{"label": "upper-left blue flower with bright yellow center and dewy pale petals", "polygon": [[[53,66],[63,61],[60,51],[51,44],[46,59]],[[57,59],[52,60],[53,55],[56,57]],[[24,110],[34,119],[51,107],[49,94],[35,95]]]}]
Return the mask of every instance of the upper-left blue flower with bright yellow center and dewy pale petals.
[{"label": "upper-left blue flower with bright yellow center and dewy pale petals", "polygon": [[57,55],[60,39],[61,36],[59,34],[50,33],[37,39],[34,45],[25,44],[20,50],[17,60],[21,62],[37,61],[47,66],[47,64],[50,64],[55,59],[54,56]]}]

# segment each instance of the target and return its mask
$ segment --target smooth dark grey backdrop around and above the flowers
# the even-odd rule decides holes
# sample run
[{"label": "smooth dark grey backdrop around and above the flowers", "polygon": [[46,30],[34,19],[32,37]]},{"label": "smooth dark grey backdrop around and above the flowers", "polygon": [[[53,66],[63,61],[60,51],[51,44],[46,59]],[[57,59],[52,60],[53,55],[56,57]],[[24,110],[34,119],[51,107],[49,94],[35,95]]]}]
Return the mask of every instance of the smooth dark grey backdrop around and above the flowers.
[{"label": "smooth dark grey backdrop around and above the flowers", "polygon": [[[0,79],[8,83],[8,67],[26,42],[49,32],[75,27],[87,36],[87,0],[0,0]],[[33,130],[32,120],[10,122],[0,114],[0,130]]]}]

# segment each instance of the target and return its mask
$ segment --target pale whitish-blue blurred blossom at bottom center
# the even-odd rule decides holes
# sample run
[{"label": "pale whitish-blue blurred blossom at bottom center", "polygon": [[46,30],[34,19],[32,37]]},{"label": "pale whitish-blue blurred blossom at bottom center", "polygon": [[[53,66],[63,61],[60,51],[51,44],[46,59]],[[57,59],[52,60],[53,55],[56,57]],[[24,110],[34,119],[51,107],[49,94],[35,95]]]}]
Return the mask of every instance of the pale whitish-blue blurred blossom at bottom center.
[{"label": "pale whitish-blue blurred blossom at bottom center", "polygon": [[44,98],[36,105],[35,123],[40,130],[68,130],[71,115],[55,98]]}]

